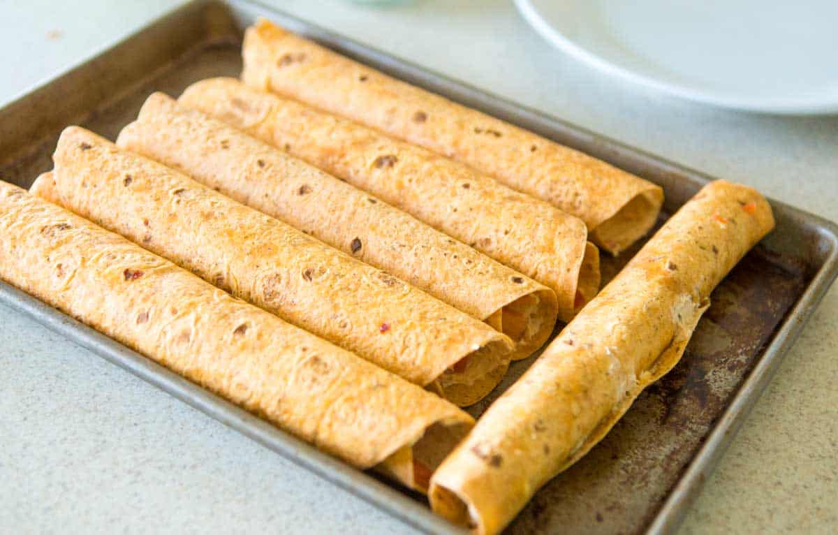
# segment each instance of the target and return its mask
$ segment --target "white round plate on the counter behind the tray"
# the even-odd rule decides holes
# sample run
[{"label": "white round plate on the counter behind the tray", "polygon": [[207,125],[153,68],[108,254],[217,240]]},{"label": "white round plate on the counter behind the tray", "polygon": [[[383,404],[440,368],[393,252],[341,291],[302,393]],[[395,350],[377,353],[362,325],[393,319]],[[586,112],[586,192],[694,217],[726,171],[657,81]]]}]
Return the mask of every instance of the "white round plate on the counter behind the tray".
[{"label": "white round plate on the counter behind the tray", "polygon": [[515,0],[599,69],[716,106],[838,112],[838,0]]}]

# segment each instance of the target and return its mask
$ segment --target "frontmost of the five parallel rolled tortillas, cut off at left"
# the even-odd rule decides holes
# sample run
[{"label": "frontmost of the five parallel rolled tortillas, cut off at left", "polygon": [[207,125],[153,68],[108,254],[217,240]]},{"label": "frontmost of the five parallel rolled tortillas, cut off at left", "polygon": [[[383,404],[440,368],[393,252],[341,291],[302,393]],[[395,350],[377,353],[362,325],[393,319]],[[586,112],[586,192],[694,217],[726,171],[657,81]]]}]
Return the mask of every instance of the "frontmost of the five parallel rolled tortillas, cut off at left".
[{"label": "frontmost of the five parallel rolled tortillas, cut off at left", "polygon": [[[473,419],[421,387],[0,182],[0,278],[365,469],[422,474]],[[406,470],[401,470],[405,472]],[[426,483],[427,485],[427,483]]]}]

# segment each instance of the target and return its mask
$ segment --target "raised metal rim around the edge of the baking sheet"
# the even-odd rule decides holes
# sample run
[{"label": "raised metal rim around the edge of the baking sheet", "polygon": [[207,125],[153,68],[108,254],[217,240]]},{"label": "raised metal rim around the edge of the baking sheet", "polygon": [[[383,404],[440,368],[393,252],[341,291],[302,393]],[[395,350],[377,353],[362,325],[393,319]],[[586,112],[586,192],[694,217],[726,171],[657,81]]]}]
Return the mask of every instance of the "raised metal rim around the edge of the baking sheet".
[{"label": "raised metal rim around the edge of the baking sheet", "polygon": [[[84,69],[85,65],[88,65],[93,60],[102,60],[112,50],[126,44],[148,29],[154,28],[162,23],[164,19],[183,13],[198,13],[199,10],[209,8],[212,5],[223,5],[230,8],[233,12],[231,14],[238,19],[239,23],[249,23],[255,15],[264,15],[273,18],[286,24],[292,30],[315,37],[324,44],[335,45],[344,52],[365,60],[370,65],[384,68],[384,70],[397,71],[402,78],[406,78],[409,81],[422,81],[424,82],[423,85],[433,86],[437,91],[445,93],[455,100],[465,101],[474,106],[490,109],[494,115],[501,118],[509,119],[514,116],[515,122],[519,124],[524,123],[522,126],[531,127],[536,131],[551,130],[551,132],[568,132],[577,138],[580,136],[590,138],[589,143],[592,143],[592,146],[599,148],[599,150],[588,150],[588,152],[594,153],[594,155],[600,158],[612,161],[614,159],[630,158],[635,164],[648,162],[658,169],[671,169],[674,173],[680,175],[681,180],[685,179],[690,181],[696,189],[711,179],[711,177],[707,177],[691,169],[686,169],[663,158],[655,157],[652,154],[644,153],[639,149],[631,148],[623,143],[604,138],[594,132],[588,132],[581,127],[576,127],[554,117],[547,117],[542,113],[534,112],[513,102],[504,101],[497,96],[492,96],[484,91],[466,86],[461,82],[453,81],[445,76],[437,75],[416,65],[398,60],[378,50],[339,36],[338,34],[320,29],[311,23],[304,22],[286,13],[248,0],[193,0],[184,6],[174,8],[168,13],[163,13],[163,15],[151,21],[142,29],[138,29],[125,39],[103,50],[99,55],[96,55],[96,58],[73,65],[68,70],[54,76],[51,80],[34,87],[32,91],[28,91],[27,94],[9,103],[7,109],[9,106],[25,105],[28,97],[33,96],[37,91],[60,83],[61,78],[65,75],[70,75],[76,70]],[[4,111],[0,109],[0,117],[3,116]],[[672,202],[680,205],[684,200],[669,200],[668,205]],[[804,221],[806,224],[814,227],[820,234],[820,239],[829,242],[829,252],[817,273],[814,274],[807,284],[798,302],[794,304],[794,307],[784,319],[783,324],[774,333],[773,339],[763,351],[763,356],[748,374],[731,403],[722,414],[722,417],[719,418],[711,433],[707,436],[705,443],[693,457],[691,463],[685,468],[678,482],[670,491],[669,496],[667,496],[662,506],[660,506],[659,512],[647,528],[647,533],[671,533],[679,526],[681,519],[687,511],[687,507],[701,491],[701,487],[705,483],[706,478],[710,475],[711,470],[715,467],[718,460],[721,459],[724,450],[727,449],[727,445],[740,428],[747,413],[753,408],[763,388],[773,376],[773,372],[779,366],[779,362],[785,353],[789,351],[789,348],[794,345],[794,340],[797,339],[806,321],[810,318],[810,315],[815,310],[817,304],[820,303],[820,300],[823,299],[826,290],[835,280],[836,275],[838,275],[838,225],[835,225],[831,221],[826,221],[819,216],[814,216],[802,210],[789,207],[784,203],[775,200],[770,200],[770,202],[775,211],[785,216],[791,216],[799,221]],[[121,366],[127,371],[131,371],[137,377],[150,382],[154,386],[168,392],[173,397],[189,403],[190,406],[197,408],[221,423],[225,423],[230,428],[239,431],[241,434],[245,434],[247,437],[256,440],[256,442],[263,444],[267,448],[276,451],[287,460],[291,460],[295,464],[303,466],[307,470],[323,477],[323,479],[344,488],[355,496],[359,496],[381,511],[387,512],[412,527],[431,533],[467,533],[465,530],[453,526],[450,522],[433,515],[427,507],[411,500],[410,497],[396,491],[390,486],[386,486],[384,483],[375,480],[370,475],[355,470],[352,466],[346,465],[328,454],[323,454],[302,440],[277,429],[260,418],[256,418],[256,416],[246,412],[244,409],[204,390],[204,388],[187,381],[183,377],[178,376],[178,374],[158,365],[156,362],[128,349],[126,346],[116,342],[116,340],[102,335],[96,330],[70,318],[70,316],[59,312],[59,310],[42,303],[38,299],[34,299],[28,293],[2,281],[0,281],[0,302],[8,304],[14,309],[18,309],[39,323],[47,326],[50,330],[54,330],[59,335],[63,335],[76,344],[93,351],[107,361]]]}]

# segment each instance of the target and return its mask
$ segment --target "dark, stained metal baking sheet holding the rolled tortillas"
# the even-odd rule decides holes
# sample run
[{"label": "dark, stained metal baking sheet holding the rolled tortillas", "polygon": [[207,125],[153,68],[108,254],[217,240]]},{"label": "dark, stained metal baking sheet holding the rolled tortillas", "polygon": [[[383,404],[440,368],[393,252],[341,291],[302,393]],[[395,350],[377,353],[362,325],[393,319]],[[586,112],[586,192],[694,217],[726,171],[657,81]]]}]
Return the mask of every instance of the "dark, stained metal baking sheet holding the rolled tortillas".
[{"label": "dark, stained metal baking sheet holding the rolled tortillas", "polygon": [[[28,187],[51,168],[49,156],[58,134],[70,123],[113,139],[152,91],[178,96],[199,79],[238,75],[241,29],[257,15],[650,179],[664,187],[667,213],[707,179],[258,4],[204,1],[173,11],[0,110],[0,179]],[[659,533],[677,526],[747,408],[835,278],[835,225],[777,202],[772,205],[777,230],[716,288],[679,366],[649,387],[590,454],[539,491],[508,532]],[[630,255],[619,260],[603,255],[605,280]],[[461,531],[434,517],[421,497],[319,453],[15,288],[0,285],[0,300],[414,527]],[[531,361],[514,363],[499,390],[471,412],[478,416]]]}]

